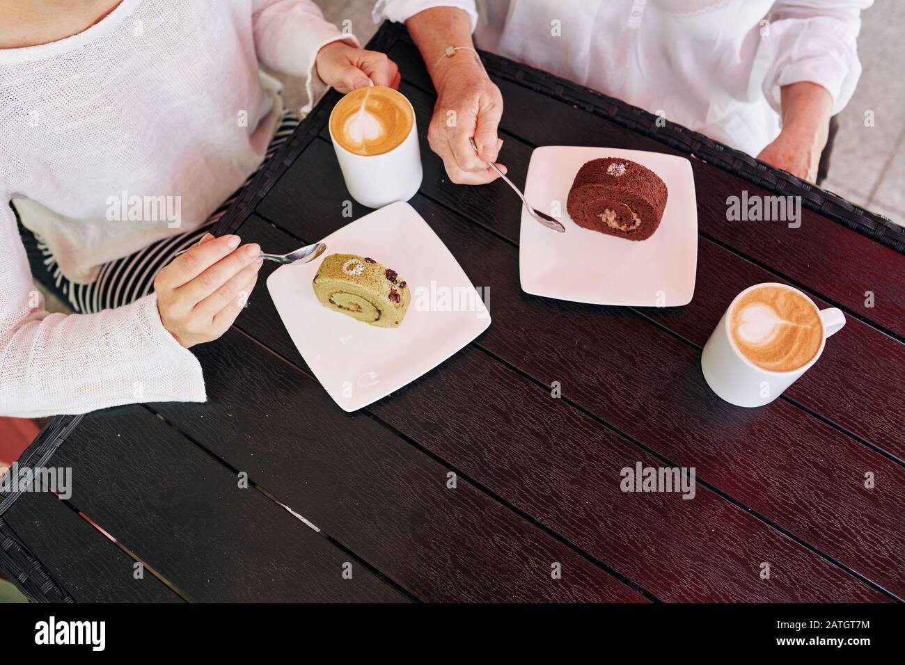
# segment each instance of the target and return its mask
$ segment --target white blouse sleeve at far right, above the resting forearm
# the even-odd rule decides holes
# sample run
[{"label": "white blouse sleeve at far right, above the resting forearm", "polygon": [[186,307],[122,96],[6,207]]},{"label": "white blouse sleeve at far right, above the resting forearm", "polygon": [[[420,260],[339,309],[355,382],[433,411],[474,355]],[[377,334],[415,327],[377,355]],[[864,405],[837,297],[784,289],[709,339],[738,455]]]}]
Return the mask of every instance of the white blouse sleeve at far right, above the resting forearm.
[{"label": "white blouse sleeve at far right, above the resting forearm", "polygon": [[811,81],[822,85],[833,98],[835,115],[852,98],[861,62],[858,33],[861,11],[873,0],[777,0],[770,12],[770,67],[764,79],[764,95],[781,112],[779,89]]}]

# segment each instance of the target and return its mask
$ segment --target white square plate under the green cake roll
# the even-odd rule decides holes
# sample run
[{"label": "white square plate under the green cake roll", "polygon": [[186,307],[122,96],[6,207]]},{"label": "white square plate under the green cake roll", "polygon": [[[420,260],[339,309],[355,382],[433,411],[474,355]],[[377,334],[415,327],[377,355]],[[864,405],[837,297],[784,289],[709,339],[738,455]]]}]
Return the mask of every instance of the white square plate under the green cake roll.
[{"label": "white square plate under the green cake roll", "polygon": [[[299,353],[346,411],[414,381],[491,325],[471,280],[409,204],[387,205],[322,242],[323,256],[281,266],[267,289]],[[399,328],[368,326],[320,304],[311,281],[329,254],[372,257],[399,273],[412,292]]]}]

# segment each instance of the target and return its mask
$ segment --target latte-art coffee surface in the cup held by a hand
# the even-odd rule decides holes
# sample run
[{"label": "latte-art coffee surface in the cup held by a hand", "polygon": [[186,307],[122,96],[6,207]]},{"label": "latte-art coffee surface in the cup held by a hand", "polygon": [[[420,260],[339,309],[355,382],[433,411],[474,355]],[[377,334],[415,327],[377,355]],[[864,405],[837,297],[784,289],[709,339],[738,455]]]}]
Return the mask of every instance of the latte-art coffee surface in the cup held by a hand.
[{"label": "latte-art coffee surface in the cup held by a hand", "polygon": [[412,108],[392,88],[352,90],[330,114],[330,133],[356,155],[381,155],[402,143],[414,124]]}]

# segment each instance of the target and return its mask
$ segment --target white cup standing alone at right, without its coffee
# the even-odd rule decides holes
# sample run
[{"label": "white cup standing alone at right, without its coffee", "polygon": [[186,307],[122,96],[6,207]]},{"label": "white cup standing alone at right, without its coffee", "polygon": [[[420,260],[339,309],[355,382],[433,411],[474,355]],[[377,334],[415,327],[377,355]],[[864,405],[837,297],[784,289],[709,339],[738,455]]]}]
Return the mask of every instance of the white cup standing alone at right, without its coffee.
[{"label": "white cup standing alone at right, without its coffee", "polygon": [[[748,291],[760,287],[781,287],[793,290],[811,303],[820,318],[823,326],[823,336],[817,353],[805,365],[787,372],[775,372],[759,367],[748,360],[738,350],[735,340],[729,331],[729,313],[735,308],[738,300]],[[704,379],[710,385],[710,389],[722,399],[737,406],[763,406],[776,399],[787,387],[795,383],[795,380],[805,374],[824,353],[826,337],[830,337],[845,325],[845,316],[840,309],[817,309],[814,300],[808,298],[805,293],[790,287],[787,284],[765,282],[755,284],[743,290],[723,313],[719,319],[717,328],[710,335],[707,344],[700,356],[700,368],[704,373]]]}]

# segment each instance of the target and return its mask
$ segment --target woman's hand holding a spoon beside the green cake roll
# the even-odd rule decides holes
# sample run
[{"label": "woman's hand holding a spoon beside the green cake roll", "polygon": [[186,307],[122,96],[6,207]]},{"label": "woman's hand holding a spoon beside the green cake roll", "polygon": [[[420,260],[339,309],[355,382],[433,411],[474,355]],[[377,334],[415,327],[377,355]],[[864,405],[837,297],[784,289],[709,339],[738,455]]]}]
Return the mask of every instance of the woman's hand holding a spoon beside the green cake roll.
[{"label": "woman's hand holding a spoon beside the green cake roll", "polygon": [[164,328],[183,347],[210,342],[226,332],[245,306],[258,280],[261,247],[239,247],[239,236],[198,244],[157,273],[157,310]]}]

